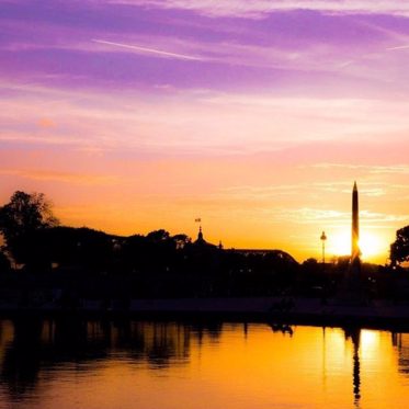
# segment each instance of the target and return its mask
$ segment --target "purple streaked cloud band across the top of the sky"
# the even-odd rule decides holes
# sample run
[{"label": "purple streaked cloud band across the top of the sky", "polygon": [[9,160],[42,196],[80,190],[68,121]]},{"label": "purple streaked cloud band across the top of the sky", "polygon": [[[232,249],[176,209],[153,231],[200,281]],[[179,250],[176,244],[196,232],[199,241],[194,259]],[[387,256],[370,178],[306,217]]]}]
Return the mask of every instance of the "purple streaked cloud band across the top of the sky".
[{"label": "purple streaked cloud band across the top of the sky", "polygon": [[[103,3],[103,0],[89,0],[89,2],[84,0],[81,7],[92,13],[93,2]],[[407,75],[405,70],[407,64],[401,61],[401,58],[406,58],[406,53],[388,53],[386,49],[387,46],[395,48],[396,45],[408,44],[406,30],[401,26],[398,26],[395,32],[391,29],[384,29],[384,25],[388,26],[385,22],[377,23],[380,27],[375,23],[371,25],[366,23],[366,21],[372,22],[371,18],[353,18],[351,21],[345,21],[348,19],[318,14],[311,16],[311,13],[295,12],[294,15],[291,13],[283,15],[282,22],[279,16],[275,16],[271,24],[247,21],[246,24],[240,25],[231,20],[214,24],[212,20],[191,15],[190,12],[173,13],[167,10],[158,12],[154,9],[180,8],[196,10],[198,13],[215,10],[215,15],[218,15],[217,12],[226,12],[226,15],[230,12],[231,15],[242,12],[247,15],[247,11],[260,10],[262,15],[268,15],[269,10],[292,9],[296,3],[299,3],[299,8],[308,8],[308,4],[314,2],[259,0],[246,3],[238,0],[219,2],[124,0],[123,2],[135,4],[137,16],[134,25],[129,24],[130,19],[125,18],[121,1],[116,1],[115,4],[100,4],[98,8],[96,15],[102,21],[115,20],[114,25],[102,26],[102,23],[96,23],[95,15],[89,23],[77,26],[75,21],[64,19],[64,8],[59,10],[58,15],[61,24],[57,24],[58,21],[50,19],[45,12],[42,15],[44,21],[41,27],[39,24],[27,24],[23,19],[19,19],[19,15],[9,20],[3,19],[5,33],[0,41],[0,49],[10,55],[26,53],[32,63],[14,66],[12,61],[15,61],[15,58],[12,58],[9,64],[2,65],[0,70],[10,70],[10,77],[20,73],[26,78],[33,72],[49,71],[50,67],[61,58],[63,53],[64,58],[72,59],[72,63],[56,65],[53,68],[54,73],[70,75],[71,83],[81,82],[80,78],[76,79],[73,76],[86,76],[87,80],[82,83],[101,88],[105,84],[113,87],[113,83],[116,87],[121,84],[129,87],[129,82],[150,84],[152,81],[163,81],[175,87],[181,84],[200,87],[206,81],[206,86],[214,89],[235,86],[254,87],[254,84],[265,89],[265,84],[269,83],[271,87],[294,88],[300,93],[306,89],[316,93],[323,89],[328,93],[331,88],[345,93],[353,87],[353,90],[359,88],[362,94],[363,89],[366,90],[372,81],[378,93],[394,91],[390,82],[399,82],[397,88],[400,92],[408,83],[406,80],[397,81],[398,78],[405,79]],[[327,4],[327,2],[320,3],[323,8]],[[320,5],[315,4],[315,7],[318,10]],[[169,19],[163,18],[167,12],[171,15]],[[200,22],[203,26],[192,29],[185,26],[183,20],[189,20],[190,24]],[[291,30],[293,24],[296,30]],[[216,25],[226,30],[234,29],[234,33],[219,33]],[[404,34],[397,35],[396,32]],[[326,41],[322,41],[323,36]],[[46,50],[49,53],[45,53]],[[44,58],[39,58],[41,53],[44,53]],[[48,58],[49,64],[46,64]],[[110,58],[110,64],[95,64],[98,58]],[[162,58],[161,68],[162,65],[164,68],[152,69],[145,66],[150,64],[149,58]],[[91,60],[94,63],[90,63]],[[178,64],[175,67],[175,61],[185,64]],[[211,64],[197,67],[196,64],[192,64],[195,61]],[[139,63],[140,66],[135,69],[135,65]],[[7,68],[9,65],[10,69]],[[169,69],[166,67],[168,65]],[[224,67],[220,68],[220,65]],[[248,67],[254,68],[257,72],[248,70]],[[193,72],[195,70],[197,71]],[[273,70],[280,72],[275,76]],[[122,75],[117,75],[118,72]],[[281,81],[282,76],[286,77],[284,81]],[[306,78],[307,76],[309,78]],[[333,76],[337,76],[336,81]],[[48,83],[50,81],[54,80],[50,79]]]}]

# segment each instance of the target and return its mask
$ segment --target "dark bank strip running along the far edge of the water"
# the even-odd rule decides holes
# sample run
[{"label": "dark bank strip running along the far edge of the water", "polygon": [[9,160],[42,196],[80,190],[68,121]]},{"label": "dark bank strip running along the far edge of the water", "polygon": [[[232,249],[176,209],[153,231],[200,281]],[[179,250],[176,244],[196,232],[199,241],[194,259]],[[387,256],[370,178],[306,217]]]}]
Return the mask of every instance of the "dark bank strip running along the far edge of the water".
[{"label": "dark bank strip running along the far edge of the water", "polygon": [[379,329],[409,330],[409,304],[372,300],[370,304],[318,298],[253,297],[253,298],[178,298],[82,300],[76,306],[55,303],[38,306],[0,304],[2,317],[86,317],[166,320],[230,320],[263,321],[287,325],[328,327],[359,326]]}]

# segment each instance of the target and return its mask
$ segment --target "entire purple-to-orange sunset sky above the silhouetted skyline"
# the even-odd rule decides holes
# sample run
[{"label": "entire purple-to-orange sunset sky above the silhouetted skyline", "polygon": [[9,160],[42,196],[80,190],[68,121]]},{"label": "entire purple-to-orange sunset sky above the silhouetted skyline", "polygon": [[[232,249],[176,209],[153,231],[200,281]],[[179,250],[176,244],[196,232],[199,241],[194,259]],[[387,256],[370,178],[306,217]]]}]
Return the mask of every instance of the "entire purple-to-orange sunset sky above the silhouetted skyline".
[{"label": "entire purple-to-orange sunset sky above the silhouetted skyline", "polygon": [[[409,2],[0,0],[0,204],[298,261],[409,224]],[[366,254],[365,254],[366,248]]]}]

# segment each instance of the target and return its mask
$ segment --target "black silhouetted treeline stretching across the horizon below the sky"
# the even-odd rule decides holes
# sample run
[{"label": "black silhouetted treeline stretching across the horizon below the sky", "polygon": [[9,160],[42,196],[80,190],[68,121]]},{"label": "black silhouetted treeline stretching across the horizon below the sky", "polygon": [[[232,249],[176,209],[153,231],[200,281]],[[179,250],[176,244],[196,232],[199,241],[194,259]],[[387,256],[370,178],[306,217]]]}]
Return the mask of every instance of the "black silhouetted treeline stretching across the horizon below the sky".
[{"label": "black silhouetted treeline stretching across the horizon below the sky", "polygon": [[[61,291],[71,300],[284,294],[330,297],[349,269],[348,258],[325,265],[315,259],[299,264],[281,250],[225,250],[206,242],[201,234],[195,240],[163,229],[122,237],[60,226],[45,196],[36,193],[15,192],[0,207],[0,231],[4,238],[0,299],[15,297],[16,292],[18,297],[30,298],[30,292],[44,288],[48,294]],[[402,293],[406,284],[399,280],[405,276],[396,264],[362,265],[362,281],[371,297]]]}]

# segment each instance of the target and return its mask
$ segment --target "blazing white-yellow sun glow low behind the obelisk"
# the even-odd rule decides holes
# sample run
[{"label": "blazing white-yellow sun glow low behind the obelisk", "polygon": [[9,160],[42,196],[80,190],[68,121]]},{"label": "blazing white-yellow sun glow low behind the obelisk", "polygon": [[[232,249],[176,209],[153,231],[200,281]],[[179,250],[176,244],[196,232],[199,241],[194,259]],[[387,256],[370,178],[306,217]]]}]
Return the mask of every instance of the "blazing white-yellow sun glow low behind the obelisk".
[{"label": "blazing white-yellow sun glow low behind the obelisk", "polygon": [[[334,255],[346,255],[351,253],[351,232],[339,231],[332,237],[329,235],[327,243],[328,254]],[[362,231],[360,236],[360,249],[362,257],[374,258],[383,252],[385,252],[387,243],[385,240],[376,234]]]}]

